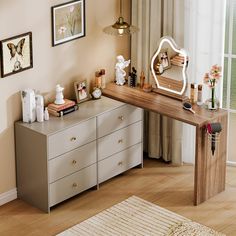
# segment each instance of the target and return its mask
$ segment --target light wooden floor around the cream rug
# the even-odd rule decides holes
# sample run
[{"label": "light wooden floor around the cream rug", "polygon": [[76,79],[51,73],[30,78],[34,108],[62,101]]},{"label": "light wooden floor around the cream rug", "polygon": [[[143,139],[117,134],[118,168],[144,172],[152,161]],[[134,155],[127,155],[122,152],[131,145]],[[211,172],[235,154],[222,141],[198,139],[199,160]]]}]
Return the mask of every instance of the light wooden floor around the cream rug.
[{"label": "light wooden floor around the cream rug", "polygon": [[205,224],[236,235],[236,168],[227,168],[226,191],[195,207],[193,167],[171,167],[145,160],[135,168],[56,207],[50,214],[15,200],[0,207],[0,235],[55,235],[122,200],[136,195]]}]

